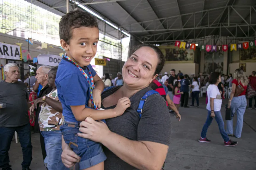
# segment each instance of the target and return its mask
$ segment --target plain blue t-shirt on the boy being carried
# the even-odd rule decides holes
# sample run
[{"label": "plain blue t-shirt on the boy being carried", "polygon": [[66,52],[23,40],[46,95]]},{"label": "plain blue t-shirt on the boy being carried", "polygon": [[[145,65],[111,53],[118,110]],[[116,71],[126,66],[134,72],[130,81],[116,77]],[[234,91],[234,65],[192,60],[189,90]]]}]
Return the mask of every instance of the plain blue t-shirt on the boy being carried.
[{"label": "plain blue t-shirt on the boy being carried", "polygon": [[[87,66],[92,73],[92,77],[96,75],[91,64]],[[89,76],[86,67],[83,67],[85,73]],[[88,107],[90,99],[89,84],[85,76],[79,68],[71,63],[71,61],[62,58],[55,79],[58,97],[62,104],[62,115],[68,122],[79,122],[75,119],[70,106],[85,105]]]}]

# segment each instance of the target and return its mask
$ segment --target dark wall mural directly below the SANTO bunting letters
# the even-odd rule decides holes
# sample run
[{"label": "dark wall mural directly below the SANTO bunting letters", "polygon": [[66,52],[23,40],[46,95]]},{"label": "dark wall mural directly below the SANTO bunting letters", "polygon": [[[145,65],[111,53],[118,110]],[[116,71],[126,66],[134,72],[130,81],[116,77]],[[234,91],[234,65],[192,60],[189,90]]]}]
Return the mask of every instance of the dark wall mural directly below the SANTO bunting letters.
[{"label": "dark wall mural directly below the SANTO bunting letters", "polygon": [[211,72],[223,73],[224,52],[206,52],[203,72],[210,74]]}]

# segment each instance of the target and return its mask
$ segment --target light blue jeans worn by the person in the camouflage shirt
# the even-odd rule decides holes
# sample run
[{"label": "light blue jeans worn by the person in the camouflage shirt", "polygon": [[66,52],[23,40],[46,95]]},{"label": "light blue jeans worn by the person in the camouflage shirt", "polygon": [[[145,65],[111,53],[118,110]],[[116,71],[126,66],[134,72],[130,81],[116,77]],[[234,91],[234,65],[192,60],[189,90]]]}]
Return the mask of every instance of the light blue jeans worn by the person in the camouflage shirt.
[{"label": "light blue jeans worn by the person in the camouflage shirt", "polygon": [[41,131],[44,137],[46,158],[45,163],[47,163],[48,170],[69,170],[61,161],[61,131]]}]

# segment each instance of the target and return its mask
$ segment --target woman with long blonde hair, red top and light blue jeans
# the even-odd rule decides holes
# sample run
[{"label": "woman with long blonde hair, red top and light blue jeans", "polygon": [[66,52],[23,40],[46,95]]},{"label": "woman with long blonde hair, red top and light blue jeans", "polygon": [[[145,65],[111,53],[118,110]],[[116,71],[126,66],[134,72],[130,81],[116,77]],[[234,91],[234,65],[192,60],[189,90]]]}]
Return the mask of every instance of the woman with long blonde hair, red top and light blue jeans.
[{"label": "woman with long blonde hair, red top and light blue jeans", "polygon": [[[233,135],[233,117],[231,120],[227,120],[227,133],[230,136],[235,136],[236,138],[241,137],[242,129],[243,129],[243,120],[244,120],[244,112],[247,106],[247,101],[245,97],[247,85],[249,84],[248,78],[245,76],[243,70],[238,68],[234,72],[234,79],[232,81],[232,91],[230,94],[230,98],[228,100],[228,108],[231,108],[232,114],[234,115],[237,112],[237,125],[236,130]],[[237,86],[243,87],[243,91],[240,94],[236,93]]]}]

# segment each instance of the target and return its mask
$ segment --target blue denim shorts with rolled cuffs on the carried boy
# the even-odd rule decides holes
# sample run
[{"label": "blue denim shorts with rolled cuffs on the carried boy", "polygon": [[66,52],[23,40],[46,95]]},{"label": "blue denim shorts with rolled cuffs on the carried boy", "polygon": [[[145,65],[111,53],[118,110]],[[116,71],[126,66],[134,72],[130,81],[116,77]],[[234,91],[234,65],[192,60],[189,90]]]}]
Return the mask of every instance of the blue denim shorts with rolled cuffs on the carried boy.
[{"label": "blue denim shorts with rolled cuffs on the carried boy", "polygon": [[79,133],[79,123],[67,122],[64,120],[60,130],[66,144],[81,157],[80,169],[90,168],[106,160],[106,155],[100,143],[90,139],[77,136]]}]

